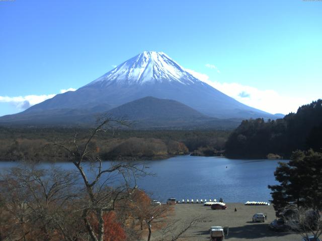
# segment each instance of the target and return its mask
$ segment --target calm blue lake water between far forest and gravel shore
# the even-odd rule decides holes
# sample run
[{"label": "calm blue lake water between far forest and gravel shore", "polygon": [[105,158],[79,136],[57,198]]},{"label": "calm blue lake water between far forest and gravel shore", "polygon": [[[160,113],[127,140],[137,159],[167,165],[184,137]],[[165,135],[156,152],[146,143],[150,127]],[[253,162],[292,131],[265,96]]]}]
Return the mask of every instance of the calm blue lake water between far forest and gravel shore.
[{"label": "calm blue lake water between far forest and gravel shore", "polygon": [[[278,160],[232,160],[222,157],[178,156],[166,160],[145,161],[146,170],[155,173],[137,181],[139,188],[153,199],[213,199],[225,202],[269,201],[268,185],[276,184],[274,171]],[[108,163],[108,162],[107,162]],[[0,168],[17,165],[2,162]],[[71,163],[55,164],[71,170]],[[41,164],[50,168],[50,164]],[[227,167],[227,168],[226,168]]]}]

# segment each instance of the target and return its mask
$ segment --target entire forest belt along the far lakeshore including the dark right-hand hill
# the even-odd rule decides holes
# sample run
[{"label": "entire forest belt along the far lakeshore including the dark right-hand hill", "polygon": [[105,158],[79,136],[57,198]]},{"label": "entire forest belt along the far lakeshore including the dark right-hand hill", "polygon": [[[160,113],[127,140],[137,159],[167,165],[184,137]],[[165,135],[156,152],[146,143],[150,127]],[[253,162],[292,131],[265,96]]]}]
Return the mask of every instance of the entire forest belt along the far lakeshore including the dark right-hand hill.
[{"label": "entire forest belt along the far lakeshore including the dark right-hand hill", "polygon": [[[66,152],[48,145],[85,140],[85,128],[0,127],[0,160],[64,161]],[[104,160],[163,159],[192,153],[228,158],[289,158],[295,150],[321,151],[322,100],[282,119],[243,121],[233,132],[216,130],[114,130],[93,140]],[[53,155],[55,153],[55,155]]]}]

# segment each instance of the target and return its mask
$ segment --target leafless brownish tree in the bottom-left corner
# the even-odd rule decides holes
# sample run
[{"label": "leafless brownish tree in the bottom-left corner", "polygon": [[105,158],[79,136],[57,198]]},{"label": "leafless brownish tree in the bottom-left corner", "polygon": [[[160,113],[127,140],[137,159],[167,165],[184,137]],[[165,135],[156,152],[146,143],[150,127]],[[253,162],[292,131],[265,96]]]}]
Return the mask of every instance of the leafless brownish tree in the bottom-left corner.
[{"label": "leafless brownish tree in the bottom-left corner", "polygon": [[70,227],[68,207],[78,194],[74,173],[24,167],[10,169],[2,179],[3,214],[9,217],[7,238],[52,240],[61,233],[60,240],[76,240],[78,233],[65,232]]}]

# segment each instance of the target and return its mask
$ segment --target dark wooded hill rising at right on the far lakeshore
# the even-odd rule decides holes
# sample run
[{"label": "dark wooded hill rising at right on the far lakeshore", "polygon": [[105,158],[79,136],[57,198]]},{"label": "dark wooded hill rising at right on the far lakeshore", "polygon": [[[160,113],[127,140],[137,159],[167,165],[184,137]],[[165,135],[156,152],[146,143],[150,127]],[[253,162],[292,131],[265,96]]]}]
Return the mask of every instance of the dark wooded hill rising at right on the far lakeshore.
[{"label": "dark wooded hill rising at right on the far lakeshore", "polygon": [[295,150],[321,151],[322,100],[298,108],[283,119],[243,121],[229,136],[225,153],[229,158],[266,158],[276,154],[289,158]]}]

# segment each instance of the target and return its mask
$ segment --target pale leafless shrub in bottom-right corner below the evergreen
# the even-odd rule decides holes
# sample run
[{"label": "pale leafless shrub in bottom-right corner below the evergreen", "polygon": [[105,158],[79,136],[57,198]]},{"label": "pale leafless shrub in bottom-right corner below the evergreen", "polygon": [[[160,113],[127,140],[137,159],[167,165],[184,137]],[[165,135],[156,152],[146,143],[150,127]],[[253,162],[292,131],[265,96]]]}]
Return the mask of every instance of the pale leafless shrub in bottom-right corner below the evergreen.
[{"label": "pale leafless shrub in bottom-right corner below the evergreen", "polygon": [[289,229],[309,240],[314,240],[322,233],[322,217],[318,210],[305,207],[288,206],[283,212],[283,218]]}]

